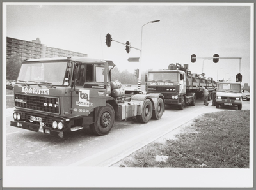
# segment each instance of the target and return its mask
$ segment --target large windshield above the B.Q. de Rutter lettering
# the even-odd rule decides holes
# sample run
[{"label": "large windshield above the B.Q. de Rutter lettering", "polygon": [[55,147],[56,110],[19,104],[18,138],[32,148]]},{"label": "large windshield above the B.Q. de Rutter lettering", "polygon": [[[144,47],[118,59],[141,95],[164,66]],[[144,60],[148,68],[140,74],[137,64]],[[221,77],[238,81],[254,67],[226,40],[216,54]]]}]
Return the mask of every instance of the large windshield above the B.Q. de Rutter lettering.
[{"label": "large windshield above the B.Q. de Rutter lettering", "polygon": [[63,85],[66,69],[67,62],[24,63],[20,68],[17,82]]}]

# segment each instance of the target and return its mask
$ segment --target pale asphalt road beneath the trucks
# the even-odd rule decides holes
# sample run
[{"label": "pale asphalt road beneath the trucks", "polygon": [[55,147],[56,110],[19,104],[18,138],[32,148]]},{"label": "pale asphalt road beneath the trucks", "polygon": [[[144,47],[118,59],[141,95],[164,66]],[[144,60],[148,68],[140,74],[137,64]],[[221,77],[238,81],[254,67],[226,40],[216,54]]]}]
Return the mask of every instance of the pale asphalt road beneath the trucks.
[{"label": "pale asphalt road beneath the trucks", "polygon": [[[109,167],[132,152],[179,128],[204,113],[237,110],[216,109],[197,100],[184,110],[166,106],[159,120],[140,124],[132,119],[116,121],[105,136],[95,136],[89,128],[74,131],[65,138],[56,138],[10,126],[12,115],[6,114],[6,166],[99,166]],[[243,101],[243,110],[250,110],[250,101]],[[4,161],[4,160],[3,160]]]}]

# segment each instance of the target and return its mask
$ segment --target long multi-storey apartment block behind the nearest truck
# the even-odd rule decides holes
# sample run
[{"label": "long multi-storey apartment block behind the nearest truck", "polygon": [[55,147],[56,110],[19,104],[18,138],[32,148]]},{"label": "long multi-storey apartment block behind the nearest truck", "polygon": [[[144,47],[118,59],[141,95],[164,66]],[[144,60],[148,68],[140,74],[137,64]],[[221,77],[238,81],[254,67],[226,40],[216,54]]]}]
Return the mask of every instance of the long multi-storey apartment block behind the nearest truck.
[{"label": "long multi-storey apartment block behind the nearest truck", "polygon": [[39,38],[36,38],[36,40],[32,41],[25,41],[7,37],[6,43],[7,59],[10,59],[10,57],[14,55],[19,55],[20,60],[37,59],[45,57],[87,57],[87,54],[72,52],[60,48],[47,47],[46,45],[41,44]]}]

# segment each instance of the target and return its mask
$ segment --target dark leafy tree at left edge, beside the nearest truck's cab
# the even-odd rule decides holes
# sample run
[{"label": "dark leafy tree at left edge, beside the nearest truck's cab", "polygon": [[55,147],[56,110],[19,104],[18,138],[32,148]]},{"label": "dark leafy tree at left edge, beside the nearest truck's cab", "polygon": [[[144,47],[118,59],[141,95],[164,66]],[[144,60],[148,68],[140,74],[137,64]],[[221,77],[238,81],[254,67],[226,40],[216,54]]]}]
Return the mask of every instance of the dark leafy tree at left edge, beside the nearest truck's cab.
[{"label": "dark leafy tree at left edge, beside the nearest truck's cab", "polygon": [[21,67],[19,55],[10,57],[6,62],[6,79],[17,80]]}]

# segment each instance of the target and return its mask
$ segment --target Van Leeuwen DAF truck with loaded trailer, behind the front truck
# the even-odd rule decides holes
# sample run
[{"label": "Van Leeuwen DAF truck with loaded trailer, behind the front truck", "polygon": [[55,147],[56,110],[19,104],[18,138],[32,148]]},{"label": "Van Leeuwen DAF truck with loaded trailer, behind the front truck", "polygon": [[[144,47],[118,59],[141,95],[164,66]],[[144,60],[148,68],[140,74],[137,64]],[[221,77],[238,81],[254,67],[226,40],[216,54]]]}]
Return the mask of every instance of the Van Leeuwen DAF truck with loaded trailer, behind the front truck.
[{"label": "Van Leeuwen DAF truck with loaded trailer, behind the front truck", "polygon": [[176,105],[183,110],[185,105],[195,106],[196,99],[202,97],[198,86],[211,92],[216,87],[213,78],[206,78],[203,74],[191,73],[188,64],[169,64],[168,69],[149,71],[146,77],[147,93],[161,93],[164,95],[166,105]]}]

